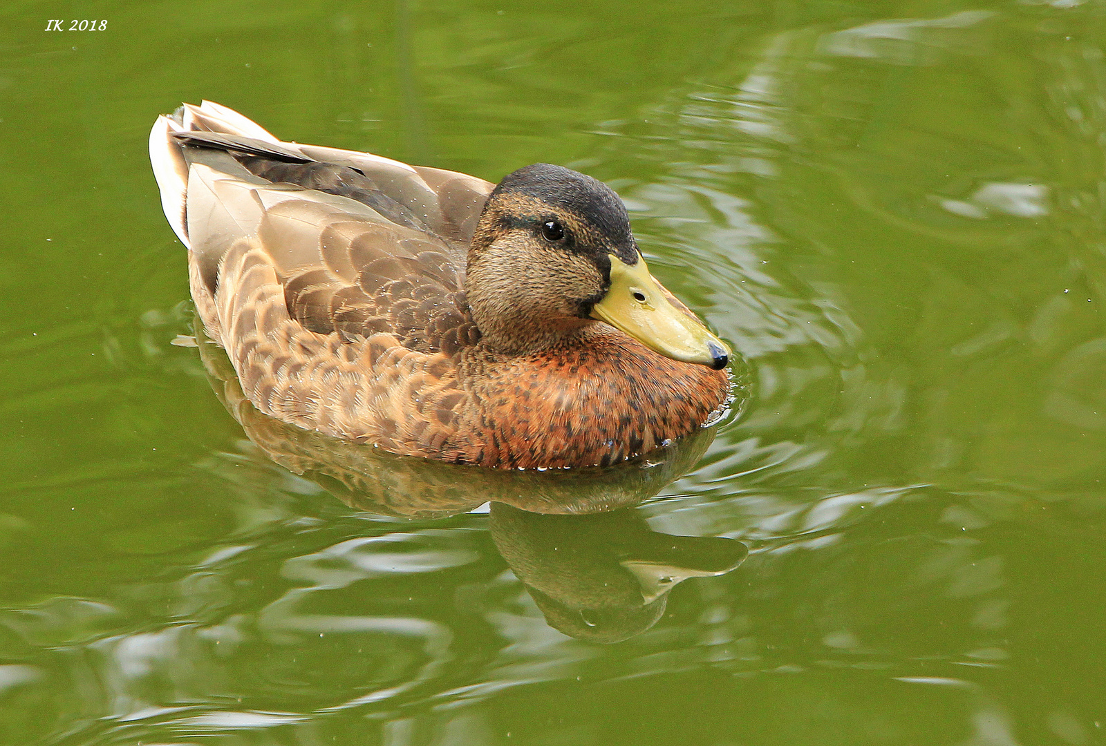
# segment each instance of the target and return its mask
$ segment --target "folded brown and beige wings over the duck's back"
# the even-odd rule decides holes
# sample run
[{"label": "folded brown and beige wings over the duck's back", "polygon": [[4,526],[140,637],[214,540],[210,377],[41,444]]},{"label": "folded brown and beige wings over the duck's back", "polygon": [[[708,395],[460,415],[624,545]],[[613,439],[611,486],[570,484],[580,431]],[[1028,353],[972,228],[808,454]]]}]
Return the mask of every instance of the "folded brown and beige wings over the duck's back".
[{"label": "folded brown and beige wings over the duck's back", "polygon": [[[247,201],[260,207],[259,248],[272,258],[289,315],[305,328],[345,340],[388,332],[408,349],[449,355],[479,339],[463,267],[492,185],[335,148],[222,133],[178,137],[196,146],[186,149],[190,161],[222,158],[246,180],[272,185]],[[312,191],[295,199],[294,187]],[[270,190],[282,193],[274,199]],[[351,214],[343,198],[369,210]]]}]

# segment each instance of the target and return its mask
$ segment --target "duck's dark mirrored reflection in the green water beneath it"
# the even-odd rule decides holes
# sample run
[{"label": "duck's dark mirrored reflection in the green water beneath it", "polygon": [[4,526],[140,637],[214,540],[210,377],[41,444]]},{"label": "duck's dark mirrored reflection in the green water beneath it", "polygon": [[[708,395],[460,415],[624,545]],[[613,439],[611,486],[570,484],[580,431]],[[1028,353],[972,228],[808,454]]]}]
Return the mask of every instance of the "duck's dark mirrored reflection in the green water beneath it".
[{"label": "duck's dark mirrored reflection in the green water beneath it", "polygon": [[212,388],[249,439],[347,505],[436,518],[490,502],[495,547],[546,622],[571,637],[618,642],[644,632],[677,584],[729,572],[748,554],[737,539],[655,532],[632,507],[693,466],[713,428],[607,467],[504,472],[399,456],[260,412],[200,324],[196,338]]}]

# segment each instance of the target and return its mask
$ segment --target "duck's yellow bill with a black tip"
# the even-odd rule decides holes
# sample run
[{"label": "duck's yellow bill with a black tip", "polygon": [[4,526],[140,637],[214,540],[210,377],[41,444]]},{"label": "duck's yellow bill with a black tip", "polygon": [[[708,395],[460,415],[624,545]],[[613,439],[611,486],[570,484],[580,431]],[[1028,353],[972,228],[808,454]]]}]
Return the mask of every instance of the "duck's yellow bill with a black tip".
[{"label": "duck's yellow bill with a black tip", "polygon": [[630,266],[611,255],[611,290],[592,309],[606,322],[665,357],[721,370],[730,360],[726,344],[702,323],[674,306],[638,256]]}]

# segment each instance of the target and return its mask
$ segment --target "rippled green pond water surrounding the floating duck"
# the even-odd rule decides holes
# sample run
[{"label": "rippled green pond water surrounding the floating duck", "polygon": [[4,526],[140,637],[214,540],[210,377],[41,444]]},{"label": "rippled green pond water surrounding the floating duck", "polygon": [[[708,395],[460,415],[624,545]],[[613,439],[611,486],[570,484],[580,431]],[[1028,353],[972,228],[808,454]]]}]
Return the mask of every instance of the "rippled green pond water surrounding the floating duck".
[{"label": "rippled green pond water surrounding the floating duck", "polygon": [[[0,28],[0,743],[1106,743],[1102,0],[9,0]],[[604,179],[744,356],[743,411],[594,518],[276,465],[170,344],[146,136],[201,98]],[[627,591],[680,547],[703,577]]]}]

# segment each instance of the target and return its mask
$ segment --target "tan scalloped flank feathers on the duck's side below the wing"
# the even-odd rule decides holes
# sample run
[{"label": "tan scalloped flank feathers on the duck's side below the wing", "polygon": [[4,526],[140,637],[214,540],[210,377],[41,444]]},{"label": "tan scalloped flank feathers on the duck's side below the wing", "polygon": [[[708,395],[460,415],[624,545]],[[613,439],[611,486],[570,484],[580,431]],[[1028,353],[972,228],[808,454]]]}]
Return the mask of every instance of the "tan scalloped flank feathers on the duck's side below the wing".
[{"label": "tan scalloped flank feathers on the duck's side below the wing", "polygon": [[344,340],[305,328],[290,316],[286,286],[255,239],[231,245],[219,279],[211,297],[194,272],[198,307],[209,329],[221,327],[242,391],[261,411],[394,453],[471,462],[482,449],[445,353],[408,349],[386,332]]}]

